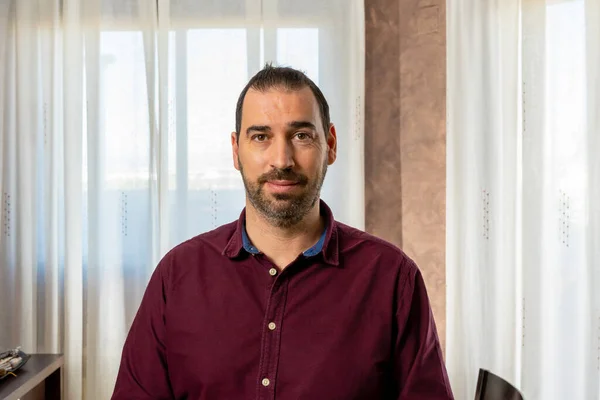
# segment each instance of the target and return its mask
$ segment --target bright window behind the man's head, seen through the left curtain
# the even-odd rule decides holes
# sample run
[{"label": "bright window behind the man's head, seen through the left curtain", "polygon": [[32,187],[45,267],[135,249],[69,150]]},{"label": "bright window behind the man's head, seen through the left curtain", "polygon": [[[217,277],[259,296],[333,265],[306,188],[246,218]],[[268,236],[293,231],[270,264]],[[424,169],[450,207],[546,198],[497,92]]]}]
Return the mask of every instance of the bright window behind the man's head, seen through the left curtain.
[{"label": "bright window behind the man's head, seen through the left curtain", "polygon": [[[132,262],[139,253],[139,232],[151,231],[148,99],[158,77],[148,80],[152,64],[146,63],[144,45],[140,31],[107,30],[100,37],[102,196],[110,215],[121,215],[122,249]],[[244,188],[233,168],[229,137],[235,129],[238,96],[269,56],[304,70],[318,84],[319,28],[210,26],[170,32],[167,151],[172,246],[239,216]],[[156,109],[159,99],[153,100]],[[141,242],[145,240],[149,238]]]}]

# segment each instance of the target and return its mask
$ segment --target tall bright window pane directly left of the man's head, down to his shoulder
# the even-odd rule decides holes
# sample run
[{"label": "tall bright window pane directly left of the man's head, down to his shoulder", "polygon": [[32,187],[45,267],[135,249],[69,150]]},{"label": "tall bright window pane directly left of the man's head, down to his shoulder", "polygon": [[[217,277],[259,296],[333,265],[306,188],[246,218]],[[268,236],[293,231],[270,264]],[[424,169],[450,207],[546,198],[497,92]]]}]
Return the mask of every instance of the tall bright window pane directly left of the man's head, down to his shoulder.
[{"label": "tall bright window pane directly left of the man's head, down to his shoulder", "polygon": [[244,206],[230,137],[248,80],[246,47],[245,29],[188,31],[188,237],[237,219]]}]

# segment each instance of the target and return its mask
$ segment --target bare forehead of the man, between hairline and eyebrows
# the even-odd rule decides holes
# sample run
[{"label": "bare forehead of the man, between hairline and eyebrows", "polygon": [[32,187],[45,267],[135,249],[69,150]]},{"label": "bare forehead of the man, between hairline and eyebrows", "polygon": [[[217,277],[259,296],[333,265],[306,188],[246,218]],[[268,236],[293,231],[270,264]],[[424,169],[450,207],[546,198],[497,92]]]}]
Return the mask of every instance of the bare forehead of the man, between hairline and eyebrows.
[{"label": "bare forehead of the man, between hairline and eyebrows", "polygon": [[242,126],[289,121],[310,121],[317,127],[321,125],[319,105],[310,88],[248,90],[242,109]]}]

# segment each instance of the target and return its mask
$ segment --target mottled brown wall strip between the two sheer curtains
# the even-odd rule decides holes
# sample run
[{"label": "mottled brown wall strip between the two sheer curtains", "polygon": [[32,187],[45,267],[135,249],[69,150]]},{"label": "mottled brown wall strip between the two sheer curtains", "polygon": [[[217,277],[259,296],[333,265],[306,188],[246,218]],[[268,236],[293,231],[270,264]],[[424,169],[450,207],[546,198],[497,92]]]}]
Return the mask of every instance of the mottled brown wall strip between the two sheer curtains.
[{"label": "mottled brown wall strip between the two sheer curtains", "polygon": [[442,346],[446,325],[446,6],[365,0],[366,229],[425,277]]}]

